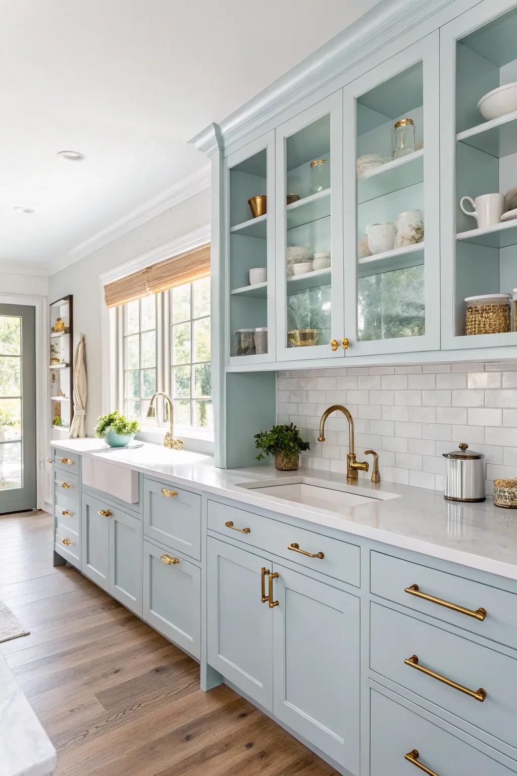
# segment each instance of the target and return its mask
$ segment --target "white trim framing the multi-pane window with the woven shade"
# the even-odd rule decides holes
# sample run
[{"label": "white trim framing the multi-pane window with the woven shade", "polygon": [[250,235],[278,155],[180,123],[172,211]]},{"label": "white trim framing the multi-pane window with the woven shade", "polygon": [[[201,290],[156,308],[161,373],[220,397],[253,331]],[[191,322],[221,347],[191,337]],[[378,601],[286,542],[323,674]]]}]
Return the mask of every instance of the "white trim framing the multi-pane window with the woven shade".
[{"label": "white trim framing the multi-pane window with the woven shade", "polygon": [[[211,227],[210,224],[207,223],[199,229],[184,234],[170,243],[160,245],[159,248],[153,248],[152,251],[148,251],[139,257],[133,258],[129,262],[125,262],[124,264],[99,275],[101,281],[102,309],[102,414],[111,412],[113,407],[122,406],[119,397],[118,378],[121,373],[119,370],[122,369],[122,353],[119,348],[119,314],[116,307],[106,307],[104,286],[115,280],[125,278],[133,272],[138,272],[139,269],[149,267],[157,262],[163,262],[167,258],[173,258],[186,251],[199,248],[209,242],[210,238]],[[160,322],[157,320],[157,327],[160,327],[161,330],[159,337],[161,347],[168,348],[169,332],[165,331],[164,320],[161,320]],[[168,374],[164,375],[164,390],[166,393],[170,393],[170,376]],[[160,407],[161,403],[159,402],[158,411],[161,413]],[[213,454],[214,438],[212,432],[209,434],[195,428],[179,427],[177,431],[178,436],[184,439],[185,449],[203,452],[209,455]],[[143,425],[139,438],[141,438],[143,442],[153,442],[161,445],[164,442],[164,426],[157,425],[153,428],[152,426]]]}]

